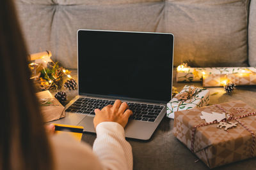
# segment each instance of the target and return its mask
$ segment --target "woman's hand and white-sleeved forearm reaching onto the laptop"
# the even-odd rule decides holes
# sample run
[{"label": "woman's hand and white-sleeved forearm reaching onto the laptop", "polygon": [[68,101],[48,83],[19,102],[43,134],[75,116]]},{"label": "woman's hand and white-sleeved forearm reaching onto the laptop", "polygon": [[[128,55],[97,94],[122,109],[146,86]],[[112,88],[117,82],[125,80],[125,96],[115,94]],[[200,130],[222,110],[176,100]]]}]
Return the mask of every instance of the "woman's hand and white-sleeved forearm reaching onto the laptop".
[{"label": "woman's hand and white-sleeved forearm reaching onto the laptop", "polygon": [[97,138],[93,152],[99,157],[104,169],[132,169],[132,148],[125,140],[124,127],[132,115],[126,103],[116,100],[102,110],[95,110]]}]

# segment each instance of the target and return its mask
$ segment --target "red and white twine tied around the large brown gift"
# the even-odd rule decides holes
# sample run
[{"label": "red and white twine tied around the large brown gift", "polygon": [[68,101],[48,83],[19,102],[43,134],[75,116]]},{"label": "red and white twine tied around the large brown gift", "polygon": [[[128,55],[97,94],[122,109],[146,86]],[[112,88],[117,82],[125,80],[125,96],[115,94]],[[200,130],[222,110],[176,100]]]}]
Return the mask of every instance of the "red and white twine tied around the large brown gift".
[{"label": "red and white twine tied around the large brown gift", "polygon": [[[221,107],[219,104],[216,104],[214,105],[218,108],[220,108],[220,110],[224,111],[226,114],[229,114],[227,113],[227,111]],[[237,113],[241,113],[243,110],[237,110]],[[239,121],[240,118],[244,118],[244,117],[250,117],[250,116],[253,116],[253,115],[256,115],[256,111],[255,112],[252,112],[252,113],[247,113],[246,115],[242,115],[242,116],[239,116],[239,117],[234,117],[237,113],[232,113],[230,114],[230,117],[227,118],[227,120],[221,120],[221,122],[225,122],[225,121],[230,121],[230,120],[236,120],[242,127],[244,127],[244,129],[246,129],[246,131],[250,132],[250,134],[252,134],[252,151],[251,151],[251,157],[253,157],[254,155],[254,150],[255,150],[255,144],[256,144],[256,138],[255,138],[255,133],[250,130],[246,125],[244,125],[242,122]],[[192,138],[191,138],[191,152],[195,153],[194,152],[194,144],[195,144],[195,132],[196,132],[196,128],[198,127],[204,127],[204,126],[207,126],[207,125],[212,125],[212,124],[216,124],[218,123],[217,120],[214,120],[213,122],[209,122],[209,123],[204,123],[204,124],[199,124],[199,125],[195,125],[193,127],[193,130],[192,130]]]}]

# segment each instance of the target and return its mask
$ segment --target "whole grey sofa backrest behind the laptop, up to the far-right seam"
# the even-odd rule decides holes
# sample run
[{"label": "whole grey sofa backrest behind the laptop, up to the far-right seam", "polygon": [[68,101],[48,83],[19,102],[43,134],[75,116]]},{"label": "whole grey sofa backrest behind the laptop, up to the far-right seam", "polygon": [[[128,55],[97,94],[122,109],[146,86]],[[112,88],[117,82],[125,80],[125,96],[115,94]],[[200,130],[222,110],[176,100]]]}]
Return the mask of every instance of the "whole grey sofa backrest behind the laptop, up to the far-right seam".
[{"label": "whole grey sofa backrest behind the laptop, up to the far-right seam", "polygon": [[249,0],[16,0],[29,52],[77,67],[78,29],[172,32],[174,64],[247,66]]}]

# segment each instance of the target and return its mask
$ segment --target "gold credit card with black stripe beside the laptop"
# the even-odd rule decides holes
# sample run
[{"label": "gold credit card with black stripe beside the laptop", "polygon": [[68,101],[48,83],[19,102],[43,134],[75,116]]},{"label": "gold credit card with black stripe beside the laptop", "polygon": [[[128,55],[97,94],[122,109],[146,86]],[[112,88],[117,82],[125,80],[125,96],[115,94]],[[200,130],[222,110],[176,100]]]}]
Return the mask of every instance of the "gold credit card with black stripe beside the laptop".
[{"label": "gold credit card with black stripe beside the laptop", "polygon": [[53,124],[55,126],[55,133],[61,134],[61,133],[68,133],[74,138],[77,139],[77,141],[81,141],[83,136],[83,126],[77,126],[77,125],[63,125],[63,124]]}]

